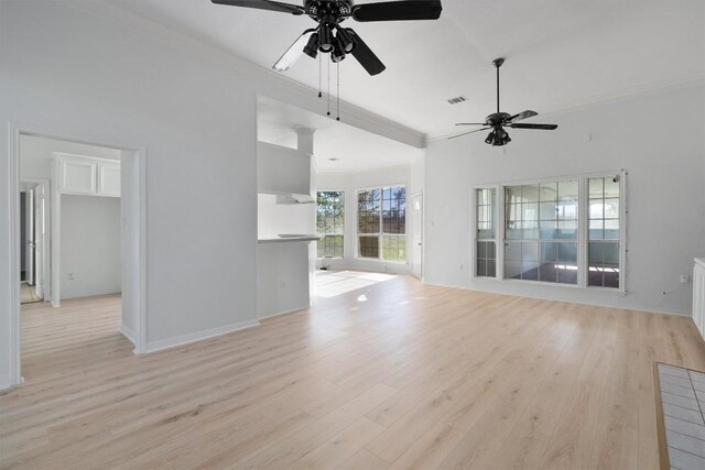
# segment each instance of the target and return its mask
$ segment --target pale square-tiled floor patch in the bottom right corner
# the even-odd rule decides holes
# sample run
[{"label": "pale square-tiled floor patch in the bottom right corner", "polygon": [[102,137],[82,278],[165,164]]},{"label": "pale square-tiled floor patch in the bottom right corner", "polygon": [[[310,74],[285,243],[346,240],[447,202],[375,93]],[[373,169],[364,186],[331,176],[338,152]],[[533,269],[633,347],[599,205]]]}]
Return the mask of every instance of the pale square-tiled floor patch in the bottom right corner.
[{"label": "pale square-tiled floor patch in the bottom right corner", "polygon": [[659,364],[671,469],[705,469],[705,373]]}]

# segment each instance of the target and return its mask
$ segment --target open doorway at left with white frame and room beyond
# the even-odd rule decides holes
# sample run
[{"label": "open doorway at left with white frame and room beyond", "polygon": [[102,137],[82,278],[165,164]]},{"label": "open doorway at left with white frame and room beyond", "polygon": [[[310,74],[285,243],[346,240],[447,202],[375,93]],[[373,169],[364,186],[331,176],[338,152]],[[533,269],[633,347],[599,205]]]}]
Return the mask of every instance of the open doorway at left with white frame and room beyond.
[{"label": "open doorway at left with white frame and room beyond", "polygon": [[[40,157],[35,154],[28,160],[28,152],[37,149],[42,150]],[[102,149],[117,157],[106,159],[105,154],[86,149]],[[93,308],[93,298],[102,299],[98,303],[102,316],[106,315],[108,298],[108,305],[115,310],[112,335],[117,335],[116,338],[127,337],[132,342],[129,349],[134,353],[145,350],[145,156],[144,146],[95,143],[59,133],[11,127],[10,171],[15,175],[10,181],[10,261],[15,266],[10,278],[12,385],[23,382],[22,323],[26,308],[31,308],[34,316],[42,310],[41,315],[52,319],[46,323],[48,325],[63,319],[62,314],[76,302],[69,297],[82,297],[84,310],[86,305]],[[62,167],[62,159],[76,163],[76,172],[66,172]],[[83,163],[86,164],[82,166]],[[116,172],[116,167],[120,170]],[[86,182],[89,190],[82,193],[86,186],[80,187],[80,184]],[[75,184],[78,186],[72,186]],[[110,209],[102,207],[102,203],[108,200]],[[65,223],[62,223],[62,215]],[[112,233],[96,232],[97,228],[107,225],[100,217],[108,215],[109,231]],[[80,220],[97,223],[83,228],[75,226]],[[67,231],[69,223],[74,226],[73,231]],[[79,234],[78,238],[72,237],[73,249],[66,245],[67,240],[62,243],[62,234],[72,232]],[[95,262],[96,251],[89,253],[90,244],[110,255]],[[72,253],[70,250],[73,254],[69,256],[67,253]],[[94,262],[94,267],[102,270],[110,264],[110,260],[116,261],[118,267],[117,271],[110,271],[109,275],[105,275],[105,270],[96,273],[86,264]],[[117,287],[101,292],[106,280]],[[68,284],[72,281],[73,285]],[[24,285],[32,287],[37,303],[22,303]],[[116,298],[118,302],[115,302]],[[63,308],[56,308],[62,304],[65,304]],[[61,331],[62,327],[57,328]],[[46,334],[51,335],[52,331]],[[126,345],[130,342],[126,341]]]}]

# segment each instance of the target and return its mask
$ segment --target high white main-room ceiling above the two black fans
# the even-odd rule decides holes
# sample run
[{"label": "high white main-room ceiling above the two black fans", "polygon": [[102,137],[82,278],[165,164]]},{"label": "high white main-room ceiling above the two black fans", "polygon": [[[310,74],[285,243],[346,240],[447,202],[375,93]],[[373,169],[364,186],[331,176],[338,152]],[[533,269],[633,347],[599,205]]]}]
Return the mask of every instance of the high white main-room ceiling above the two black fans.
[{"label": "high white main-room ceiling above the two black fans", "polygon": [[[268,68],[313,24],[209,0],[112,2]],[[370,77],[346,58],[343,99],[433,136],[494,110],[498,56],[507,57],[507,112],[556,111],[705,77],[703,0],[444,0],[443,8],[438,21],[348,20],[387,70]],[[306,56],[285,74],[318,86],[318,64]],[[458,95],[468,101],[446,103]]]}]

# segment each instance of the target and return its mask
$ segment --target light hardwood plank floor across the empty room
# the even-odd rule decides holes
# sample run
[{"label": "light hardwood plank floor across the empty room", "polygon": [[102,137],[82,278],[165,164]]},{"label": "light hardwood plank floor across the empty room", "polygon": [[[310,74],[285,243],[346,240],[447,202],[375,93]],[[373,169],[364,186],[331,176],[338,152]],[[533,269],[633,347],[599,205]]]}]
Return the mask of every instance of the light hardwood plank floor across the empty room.
[{"label": "light hardwood plank floor across the empty room", "polygon": [[140,358],[118,310],[23,308],[2,468],[657,469],[651,362],[705,369],[690,318],[408,277]]}]

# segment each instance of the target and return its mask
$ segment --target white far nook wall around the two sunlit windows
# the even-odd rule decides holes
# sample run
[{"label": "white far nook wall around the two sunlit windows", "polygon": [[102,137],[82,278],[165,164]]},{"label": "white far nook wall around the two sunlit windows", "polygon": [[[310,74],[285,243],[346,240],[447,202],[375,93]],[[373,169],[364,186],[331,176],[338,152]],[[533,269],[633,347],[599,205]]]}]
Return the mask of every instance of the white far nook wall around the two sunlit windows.
[{"label": "white far nook wall around the two sunlit windows", "polygon": [[[412,164],[389,166],[365,172],[318,173],[318,190],[345,190],[345,239],[344,258],[340,260],[326,260],[332,269],[352,269],[366,271],[381,271],[397,274],[411,272],[411,227],[413,211],[406,210],[406,262],[393,263],[357,258],[357,190],[370,187],[406,186],[406,200],[423,189],[423,177],[419,174],[422,152],[410,149],[413,154]],[[412,177],[413,176],[413,177]],[[413,184],[412,184],[413,183]],[[406,205],[409,208],[409,204]],[[321,261],[317,262],[321,266]]]}]

